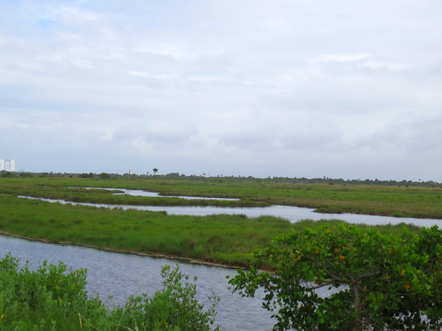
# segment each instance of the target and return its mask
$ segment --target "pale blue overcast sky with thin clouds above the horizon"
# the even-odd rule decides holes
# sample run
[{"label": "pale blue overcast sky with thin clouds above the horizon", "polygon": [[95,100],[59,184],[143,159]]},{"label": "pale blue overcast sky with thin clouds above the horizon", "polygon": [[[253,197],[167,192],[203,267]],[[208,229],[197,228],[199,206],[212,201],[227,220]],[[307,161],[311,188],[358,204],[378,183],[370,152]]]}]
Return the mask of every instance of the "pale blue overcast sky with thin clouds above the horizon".
[{"label": "pale blue overcast sky with thin clouds above the horizon", "polygon": [[442,181],[442,1],[2,0],[17,170]]}]

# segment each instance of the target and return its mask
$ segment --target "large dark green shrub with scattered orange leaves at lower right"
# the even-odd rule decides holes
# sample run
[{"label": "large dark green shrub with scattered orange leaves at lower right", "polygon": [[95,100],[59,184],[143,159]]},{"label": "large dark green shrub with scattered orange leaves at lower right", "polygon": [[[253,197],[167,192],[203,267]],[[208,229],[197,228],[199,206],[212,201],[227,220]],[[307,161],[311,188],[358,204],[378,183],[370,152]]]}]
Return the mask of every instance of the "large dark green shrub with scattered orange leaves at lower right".
[{"label": "large dark green shrub with scattered orange leaves at lower right", "polygon": [[229,281],[242,296],[265,289],[273,330],[442,330],[436,226],[398,237],[352,225],[306,228],[273,242],[254,254],[275,274],[251,268]]}]

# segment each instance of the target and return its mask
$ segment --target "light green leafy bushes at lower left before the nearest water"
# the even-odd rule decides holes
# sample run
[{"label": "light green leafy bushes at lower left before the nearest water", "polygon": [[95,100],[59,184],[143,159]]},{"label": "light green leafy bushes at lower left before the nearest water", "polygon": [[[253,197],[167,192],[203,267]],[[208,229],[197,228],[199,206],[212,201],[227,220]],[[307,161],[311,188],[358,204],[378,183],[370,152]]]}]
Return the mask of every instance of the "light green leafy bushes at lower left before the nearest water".
[{"label": "light green leafy bushes at lower left before the nearest water", "polygon": [[218,297],[204,311],[195,299],[195,281],[178,266],[162,269],[164,288],[148,297],[131,296],[124,307],[107,308],[88,297],[86,269],[67,270],[64,263],[31,271],[8,254],[0,260],[0,330],[220,330],[213,325]]}]

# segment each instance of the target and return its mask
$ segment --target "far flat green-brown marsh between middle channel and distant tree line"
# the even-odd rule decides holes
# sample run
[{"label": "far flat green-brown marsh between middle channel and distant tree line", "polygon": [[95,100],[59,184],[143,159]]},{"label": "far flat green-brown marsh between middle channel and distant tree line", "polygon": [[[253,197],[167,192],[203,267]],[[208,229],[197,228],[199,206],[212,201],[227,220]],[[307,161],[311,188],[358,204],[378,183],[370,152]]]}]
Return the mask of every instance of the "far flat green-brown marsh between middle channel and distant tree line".
[{"label": "far flat green-brown marsh between middle channel and distant tree line", "polygon": [[[184,200],[115,196],[110,191],[70,189],[69,186],[126,188],[163,195],[238,198],[241,201]],[[442,219],[442,189],[376,185],[326,185],[177,179],[79,179],[68,177],[1,178],[0,194],[30,195],[76,202],[133,205],[218,205],[253,207],[296,205],[317,212],[374,214]]]}]

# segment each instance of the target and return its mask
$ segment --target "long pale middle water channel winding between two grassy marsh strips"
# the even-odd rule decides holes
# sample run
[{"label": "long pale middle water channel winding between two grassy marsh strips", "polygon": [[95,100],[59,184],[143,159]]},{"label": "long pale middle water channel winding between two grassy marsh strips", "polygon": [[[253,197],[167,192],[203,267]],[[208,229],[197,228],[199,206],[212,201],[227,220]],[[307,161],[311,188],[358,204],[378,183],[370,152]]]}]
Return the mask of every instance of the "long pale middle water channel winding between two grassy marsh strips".
[{"label": "long pale middle water channel winding between two grassy marsh strips", "polygon": [[247,217],[260,217],[262,215],[271,215],[276,217],[282,217],[288,219],[292,223],[300,221],[302,219],[313,219],[318,221],[320,219],[342,219],[349,223],[365,223],[369,225],[376,224],[399,224],[399,223],[413,223],[419,226],[430,227],[432,225],[438,225],[442,228],[442,219],[412,219],[407,217],[387,217],[387,216],[374,216],[363,214],[322,214],[314,212],[312,208],[294,207],[291,205],[271,205],[269,207],[259,208],[231,208],[231,207],[213,207],[213,206],[157,206],[157,205],[106,205],[102,203],[75,203],[64,200],[56,199],[42,199],[23,197],[28,199],[39,199],[49,202],[59,203],[72,203],[73,205],[90,205],[93,207],[105,207],[105,208],[122,208],[124,210],[152,210],[160,211],[166,210],[168,214],[175,215],[193,215],[193,216],[205,216],[211,214],[245,214]]}]

